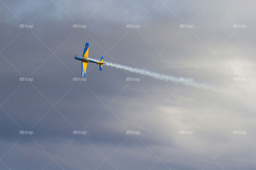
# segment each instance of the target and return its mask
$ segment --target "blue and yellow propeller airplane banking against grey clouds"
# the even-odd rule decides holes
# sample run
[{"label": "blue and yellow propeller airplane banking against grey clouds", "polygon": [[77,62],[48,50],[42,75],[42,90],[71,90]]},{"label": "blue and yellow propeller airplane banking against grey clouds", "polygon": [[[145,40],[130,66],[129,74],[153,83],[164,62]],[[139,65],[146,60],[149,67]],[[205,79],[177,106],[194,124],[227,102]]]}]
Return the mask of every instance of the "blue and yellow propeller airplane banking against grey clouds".
[{"label": "blue and yellow propeller airplane banking against grey clouds", "polygon": [[86,67],[87,67],[88,62],[99,64],[99,70],[100,71],[102,69],[102,65],[106,64],[106,63],[103,63],[103,56],[101,56],[100,62],[90,60],[88,58],[88,56],[89,56],[89,43],[86,43],[85,44],[85,50],[83,51],[83,56],[78,57],[77,55],[75,55],[75,57],[74,57],[75,60],[81,60],[82,61],[82,77],[85,77],[85,72],[86,72]]}]

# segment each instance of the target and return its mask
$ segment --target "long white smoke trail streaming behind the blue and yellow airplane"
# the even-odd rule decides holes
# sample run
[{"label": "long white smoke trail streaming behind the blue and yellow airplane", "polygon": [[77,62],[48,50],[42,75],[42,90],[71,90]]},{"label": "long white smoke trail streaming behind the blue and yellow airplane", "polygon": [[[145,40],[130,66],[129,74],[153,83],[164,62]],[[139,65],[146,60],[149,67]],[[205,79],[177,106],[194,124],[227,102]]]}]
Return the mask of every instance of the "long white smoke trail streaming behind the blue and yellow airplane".
[{"label": "long white smoke trail streaming behind the blue and yellow airplane", "polygon": [[[93,59],[93,58],[89,58],[89,59],[99,62],[99,60],[97,60],[97,59]],[[173,76],[166,75],[166,74],[159,74],[159,73],[155,73],[155,72],[152,72],[152,71],[149,71],[149,70],[133,68],[133,67],[130,67],[130,66],[125,66],[125,65],[121,65],[121,64],[117,64],[117,63],[111,63],[111,62],[106,62],[106,61],[104,61],[104,62],[106,63],[105,64],[106,66],[115,67],[117,69],[124,69],[124,70],[130,71],[130,72],[133,72],[133,73],[138,73],[138,74],[141,74],[141,75],[150,76],[150,77],[153,77],[155,79],[165,80],[167,82],[170,81],[170,82],[173,82],[173,83],[176,83],[176,84],[184,84],[186,86],[194,86],[195,88],[204,88],[204,89],[215,91],[215,89],[213,87],[207,86],[203,83],[196,83],[196,82],[193,82],[193,81],[185,81],[185,80],[183,81],[183,80],[180,80],[180,78],[173,77]]]}]

